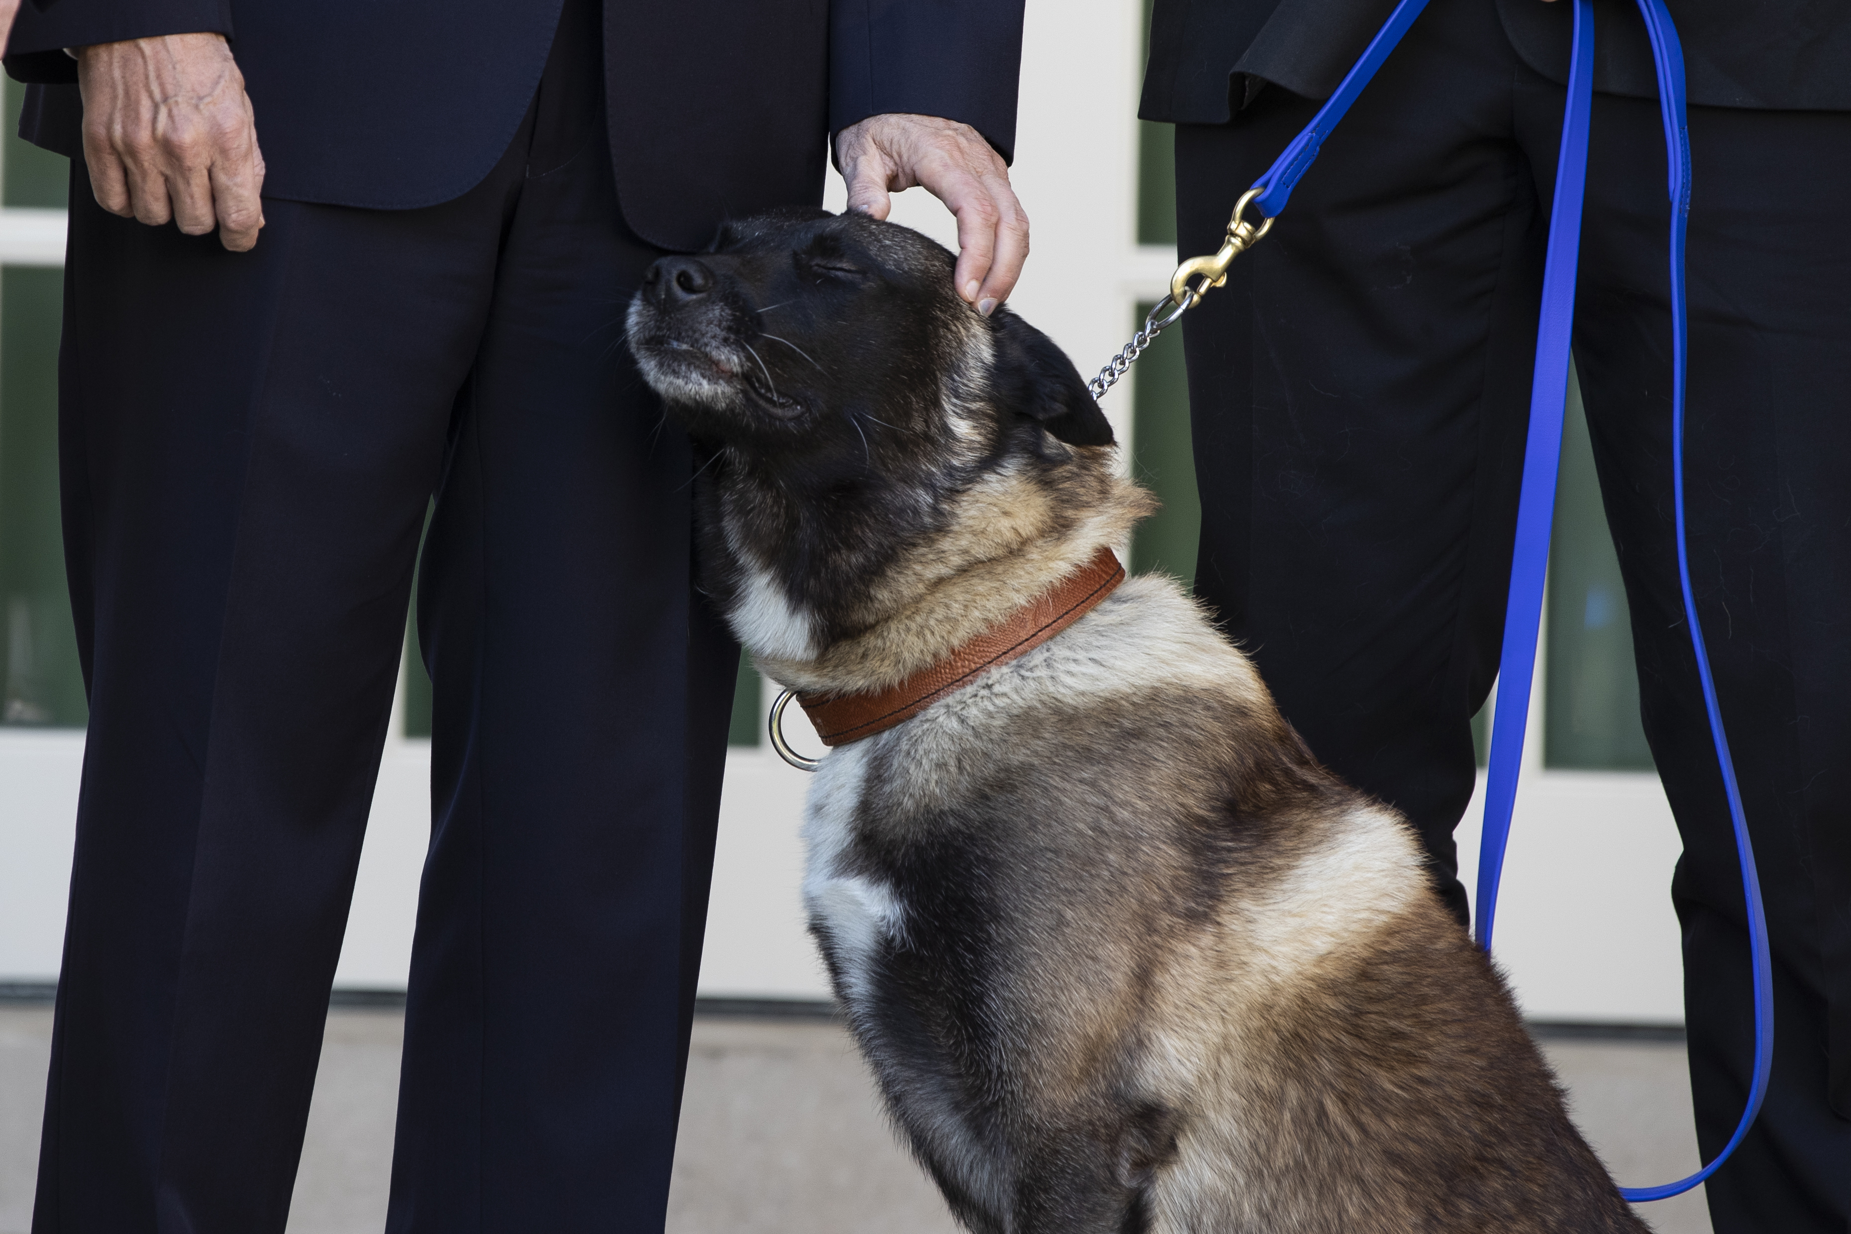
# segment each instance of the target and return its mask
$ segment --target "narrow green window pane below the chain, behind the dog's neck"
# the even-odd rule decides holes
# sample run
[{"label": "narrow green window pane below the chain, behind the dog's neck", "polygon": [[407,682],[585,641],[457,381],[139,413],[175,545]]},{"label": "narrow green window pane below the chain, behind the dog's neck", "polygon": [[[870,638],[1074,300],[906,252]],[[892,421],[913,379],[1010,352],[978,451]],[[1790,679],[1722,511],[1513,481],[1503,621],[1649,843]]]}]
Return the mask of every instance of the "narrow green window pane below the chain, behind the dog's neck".
[{"label": "narrow green window pane below the chain, behind the dog's neck", "polygon": [[[1149,311],[1151,305],[1138,305],[1137,326]],[[1157,337],[1138,361],[1131,390],[1131,475],[1162,501],[1162,509],[1138,524],[1131,537],[1131,570],[1161,570],[1190,585],[1201,540],[1201,501],[1196,496],[1196,450],[1188,438],[1181,329]]]}]

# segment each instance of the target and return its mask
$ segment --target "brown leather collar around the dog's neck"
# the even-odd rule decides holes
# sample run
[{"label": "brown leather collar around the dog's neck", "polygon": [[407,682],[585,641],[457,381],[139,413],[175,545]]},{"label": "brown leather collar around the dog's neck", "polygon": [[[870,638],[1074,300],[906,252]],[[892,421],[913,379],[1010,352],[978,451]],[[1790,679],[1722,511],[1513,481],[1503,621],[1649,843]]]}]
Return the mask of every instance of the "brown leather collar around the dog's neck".
[{"label": "brown leather collar around the dog's neck", "polygon": [[911,720],[946,694],[968,686],[983,672],[1007,664],[1042,646],[1087,616],[1094,605],[1125,581],[1125,568],[1109,548],[1055,583],[1040,599],[1011,612],[1001,625],[953,648],[937,664],[876,694],[800,694],[803,714],[816,725],[824,746],[848,746]]}]

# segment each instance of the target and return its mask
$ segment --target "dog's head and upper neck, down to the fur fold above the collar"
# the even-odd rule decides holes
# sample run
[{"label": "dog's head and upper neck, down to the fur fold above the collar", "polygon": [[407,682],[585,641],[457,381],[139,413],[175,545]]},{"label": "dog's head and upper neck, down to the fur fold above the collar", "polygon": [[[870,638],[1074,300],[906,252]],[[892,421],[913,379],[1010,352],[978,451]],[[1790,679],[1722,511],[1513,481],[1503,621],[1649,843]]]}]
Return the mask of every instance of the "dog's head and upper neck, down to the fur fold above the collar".
[{"label": "dog's head and upper neck, down to the fur fold above the collar", "polygon": [[777,211],[663,257],[629,305],[642,376],[703,455],[703,586],[761,662],[813,660],[1114,500],[1096,542],[1148,511],[1074,364],[977,315],[953,265],[907,228]]}]

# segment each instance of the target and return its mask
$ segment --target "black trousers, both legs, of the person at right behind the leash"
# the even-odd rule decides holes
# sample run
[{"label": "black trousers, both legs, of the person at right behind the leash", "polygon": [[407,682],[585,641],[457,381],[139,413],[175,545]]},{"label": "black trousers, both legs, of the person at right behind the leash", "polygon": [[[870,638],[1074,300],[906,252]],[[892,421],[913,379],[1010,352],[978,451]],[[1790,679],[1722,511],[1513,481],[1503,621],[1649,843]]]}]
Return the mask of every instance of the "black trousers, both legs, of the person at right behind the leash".
[{"label": "black trousers, both legs, of the person at right behind the leash", "polygon": [[[1198,590],[1311,747],[1412,818],[1460,916],[1451,833],[1503,633],[1562,94],[1516,61],[1490,6],[1436,0],[1185,327]],[[1235,198],[1314,109],[1268,87],[1233,124],[1179,130],[1183,253],[1214,252]],[[1851,115],[1694,107],[1690,133],[1690,555],[1779,1025],[1771,1093],[1708,1201],[1720,1234],[1844,1234]],[[1673,557],[1662,150],[1655,100],[1596,96],[1575,355],[1646,733],[1684,840],[1671,895],[1707,1160],[1742,1110],[1753,1034]]]}]

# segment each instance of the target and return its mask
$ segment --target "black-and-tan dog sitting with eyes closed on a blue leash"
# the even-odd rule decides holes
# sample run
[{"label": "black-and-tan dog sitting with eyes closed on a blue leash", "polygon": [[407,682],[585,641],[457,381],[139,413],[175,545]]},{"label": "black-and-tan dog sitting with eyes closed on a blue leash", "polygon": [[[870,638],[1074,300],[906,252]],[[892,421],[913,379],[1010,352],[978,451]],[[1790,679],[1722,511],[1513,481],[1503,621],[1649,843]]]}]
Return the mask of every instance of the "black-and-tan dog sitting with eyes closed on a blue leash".
[{"label": "black-and-tan dog sitting with eyes closed on a blue leash", "polygon": [[[1066,355],[951,270],[779,211],[631,302],[702,588],[807,703],[955,662],[1155,509]],[[1647,1228],[1412,829],[1172,579],[837,746],[803,838],[837,999],[979,1234]]]}]

